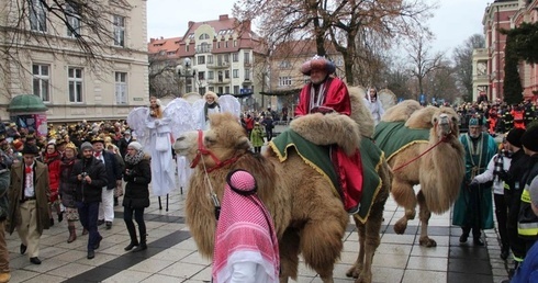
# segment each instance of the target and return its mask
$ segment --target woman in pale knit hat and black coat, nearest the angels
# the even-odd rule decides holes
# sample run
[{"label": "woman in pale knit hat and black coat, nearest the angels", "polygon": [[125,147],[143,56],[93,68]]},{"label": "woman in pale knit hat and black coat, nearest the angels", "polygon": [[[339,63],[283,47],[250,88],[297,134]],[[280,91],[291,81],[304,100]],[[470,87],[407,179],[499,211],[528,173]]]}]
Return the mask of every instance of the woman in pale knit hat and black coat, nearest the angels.
[{"label": "woman in pale knit hat and black coat, nearest the angels", "polygon": [[[127,146],[125,155],[125,173],[123,180],[126,182],[125,195],[123,196],[123,219],[127,226],[131,244],[125,250],[133,252],[147,249],[146,245],[146,224],[144,223],[144,208],[149,206],[149,183],[152,182],[152,168],[149,157],[144,154],[138,142],[132,142]],[[133,223],[133,215],[138,224],[141,240],[136,237],[136,229]]]}]

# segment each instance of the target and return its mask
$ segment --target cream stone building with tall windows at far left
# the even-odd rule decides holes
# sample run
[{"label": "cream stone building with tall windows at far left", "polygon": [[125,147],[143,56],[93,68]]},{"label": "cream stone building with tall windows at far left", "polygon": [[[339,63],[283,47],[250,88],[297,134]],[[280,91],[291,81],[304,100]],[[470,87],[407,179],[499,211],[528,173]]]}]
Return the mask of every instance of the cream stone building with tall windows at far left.
[{"label": "cream stone building with tall windows at far left", "polygon": [[[52,122],[123,120],[148,104],[146,0],[97,0],[96,16],[68,3],[46,4],[67,16],[40,0],[0,4],[0,49],[11,54],[0,58],[2,120],[19,94],[40,97]],[[94,47],[92,55],[80,41]]]}]

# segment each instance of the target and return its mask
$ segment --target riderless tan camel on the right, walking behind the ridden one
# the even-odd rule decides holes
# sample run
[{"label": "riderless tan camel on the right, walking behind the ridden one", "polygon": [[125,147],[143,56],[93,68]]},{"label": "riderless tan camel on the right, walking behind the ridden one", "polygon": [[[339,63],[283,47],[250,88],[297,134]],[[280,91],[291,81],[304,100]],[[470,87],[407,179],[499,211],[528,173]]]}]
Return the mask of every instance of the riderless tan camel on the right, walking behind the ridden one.
[{"label": "riderless tan camel on the right, walking behind the ridden one", "polygon": [[[422,107],[418,102],[407,100],[389,109],[376,127],[376,143],[385,151],[394,173],[391,193],[405,208],[394,231],[405,231],[407,222],[415,218],[418,204],[421,246],[437,246],[428,237],[428,220],[431,213],[442,214],[450,208],[463,180],[464,150],[459,142],[458,124],[459,117],[450,107]],[[424,137],[404,140],[402,131]],[[402,142],[395,144],[394,140]],[[416,184],[421,184],[421,190],[415,195],[413,186]]]}]

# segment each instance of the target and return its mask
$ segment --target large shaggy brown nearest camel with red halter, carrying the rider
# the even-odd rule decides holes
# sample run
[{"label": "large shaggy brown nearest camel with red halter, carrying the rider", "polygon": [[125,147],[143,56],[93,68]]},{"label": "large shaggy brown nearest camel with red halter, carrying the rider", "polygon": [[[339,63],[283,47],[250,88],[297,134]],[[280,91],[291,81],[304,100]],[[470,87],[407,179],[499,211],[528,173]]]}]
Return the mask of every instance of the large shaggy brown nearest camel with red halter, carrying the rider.
[{"label": "large shaggy brown nearest camel with red halter, carrying the rider", "polygon": [[[355,105],[355,109],[361,106]],[[366,107],[362,111],[368,112]],[[357,113],[356,117],[363,115]],[[271,145],[264,155],[253,154],[245,131],[233,115],[213,114],[210,121],[210,129],[186,133],[173,145],[176,152],[195,165],[187,194],[186,216],[199,252],[212,258],[216,200],[223,195],[227,172],[244,168],[256,178],[258,195],[274,220],[282,270],[280,282],[288,282],[290,278],[296,280],[299,254],[323,282],[334,282],[334,264],[339,259],[349,222],[334,184],[295,150],[288,150],[284,158]],[[340,114],[305,115],[293,121],[290,128],[316,145],[338,144],[346,152],[352,152],[359,143],[371,143],[368,138],[361,142],[360,126]],[[367,156],[365,152],[363,158]],[[363,188],[372,190],[373,195],[367,217],[354,216],[360,250],[346,274],[356,278],[357,283],[372,281],[371,263],[380,244],[382,214],[390,192],[391,171],[381,150],[378,159],[379,185]]]}]

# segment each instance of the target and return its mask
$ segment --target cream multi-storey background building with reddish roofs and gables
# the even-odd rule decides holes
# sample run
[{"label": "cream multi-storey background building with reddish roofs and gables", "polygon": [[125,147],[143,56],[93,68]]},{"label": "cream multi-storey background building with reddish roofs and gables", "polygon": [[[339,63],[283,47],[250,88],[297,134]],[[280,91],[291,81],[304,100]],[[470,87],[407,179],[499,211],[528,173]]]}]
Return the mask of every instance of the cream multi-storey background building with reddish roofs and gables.
[{"label": "cream multi-storey background building with reddish roofs and gables", "polygon": [[150,72],[159,72],[162,66],[171,69],[177,64],[180,93],[243,94],[246,110],[261,104],[259,92],[265,88],[267,45],[253,32],[250,21],[239,22],[222,14],[217,20],[189,22],[182,37],[153,38],[148,52],[150,58],[167,61],[156,64],[159,67]]}]

